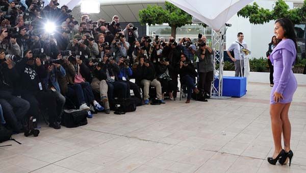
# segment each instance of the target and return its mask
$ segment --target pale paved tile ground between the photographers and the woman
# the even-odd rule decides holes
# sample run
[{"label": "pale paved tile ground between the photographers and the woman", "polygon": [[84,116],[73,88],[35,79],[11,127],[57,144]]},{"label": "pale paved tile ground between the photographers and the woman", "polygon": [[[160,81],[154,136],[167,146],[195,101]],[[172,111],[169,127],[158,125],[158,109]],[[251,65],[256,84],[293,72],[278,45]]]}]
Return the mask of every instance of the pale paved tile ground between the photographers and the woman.
[{"label": "pale paved tile ground between the photographers and the woman", "polygon": [[270,165],[267,84],[242,98],[167,102],[125,115],[96,114],[84,127],[42,127],[0,148],[0,172],[306,172],[306,86],[290,109],[293,164]]}]

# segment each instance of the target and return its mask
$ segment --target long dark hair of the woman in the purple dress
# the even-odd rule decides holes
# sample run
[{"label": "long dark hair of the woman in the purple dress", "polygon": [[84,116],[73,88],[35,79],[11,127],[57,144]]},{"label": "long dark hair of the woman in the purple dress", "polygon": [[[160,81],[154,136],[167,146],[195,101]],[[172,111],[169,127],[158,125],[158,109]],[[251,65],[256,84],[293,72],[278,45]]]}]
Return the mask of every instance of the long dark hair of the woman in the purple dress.
[{"label": "long dark hair of the woman in the purple dress", "polygon": [[[291,39],[295,44],[295,50],[297,51],[297,43],[296,43],[296,34],[294,32],[294,24],[288,18],[280,18],[275,21],[275,23],[279,23],[284,29],[284,37]],[[297,58],[297,55],[296,55]]]}]

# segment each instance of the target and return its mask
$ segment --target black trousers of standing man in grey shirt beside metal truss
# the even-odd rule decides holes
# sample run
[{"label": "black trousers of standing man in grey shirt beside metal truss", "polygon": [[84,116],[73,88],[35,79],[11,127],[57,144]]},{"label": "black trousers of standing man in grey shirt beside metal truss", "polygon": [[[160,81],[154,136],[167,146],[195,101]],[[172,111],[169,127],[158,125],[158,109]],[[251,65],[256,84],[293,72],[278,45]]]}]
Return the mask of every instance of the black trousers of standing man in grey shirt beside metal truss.
[{"label": "black trousers of standing man in grey shirt beside metal truss", "polygon": [[214,71],[199,72],[198,88],[204,91],[205,93],[210,93],[213,80],[214,80]]}]

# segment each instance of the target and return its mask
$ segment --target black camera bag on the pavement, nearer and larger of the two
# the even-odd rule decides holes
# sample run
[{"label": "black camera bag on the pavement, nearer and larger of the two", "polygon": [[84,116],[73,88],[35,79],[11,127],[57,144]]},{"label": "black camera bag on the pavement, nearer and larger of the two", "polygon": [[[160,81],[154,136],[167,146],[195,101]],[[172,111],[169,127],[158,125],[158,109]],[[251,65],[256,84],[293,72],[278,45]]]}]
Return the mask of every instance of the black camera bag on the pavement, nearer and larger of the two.
[{"label": "black camera bag on the pavement, nearer and larger of the two", "polygon": [[87,125],[87,115],[88,112],[86,110],[64,110],[61,125],[66,128]]}]

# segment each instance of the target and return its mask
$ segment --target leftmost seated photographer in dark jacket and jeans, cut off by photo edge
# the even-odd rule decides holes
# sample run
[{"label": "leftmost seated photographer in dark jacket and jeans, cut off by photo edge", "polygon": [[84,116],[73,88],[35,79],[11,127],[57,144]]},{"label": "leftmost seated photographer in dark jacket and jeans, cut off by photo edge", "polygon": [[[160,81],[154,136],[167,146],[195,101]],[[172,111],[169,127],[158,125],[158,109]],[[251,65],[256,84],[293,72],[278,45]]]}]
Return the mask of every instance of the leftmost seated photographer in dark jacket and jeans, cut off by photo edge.
[{"label": "leftmost seated photographer in dark jacket and jeans, cut off by photo edge", "polygon": [[0,48],[0,104],[4,112],[2,122],[6,120],[14,133],[22,131],[22,120],[30,108],[28,101],[14,94],[14,85],[17,84],[19,75],[13,66],[14,59],[6,58],[5,50]]}]

